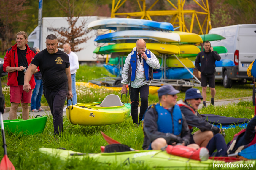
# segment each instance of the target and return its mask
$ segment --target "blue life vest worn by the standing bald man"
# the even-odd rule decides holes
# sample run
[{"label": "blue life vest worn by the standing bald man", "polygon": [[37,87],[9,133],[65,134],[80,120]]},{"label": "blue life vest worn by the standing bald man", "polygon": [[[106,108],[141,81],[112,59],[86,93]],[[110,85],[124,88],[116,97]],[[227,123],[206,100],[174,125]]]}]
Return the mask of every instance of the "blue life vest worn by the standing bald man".
[{"label": "blue life vest worn by the standing bald man", "polygon": [[[147,58],[151,57],[150,50],[146,50],[145,53],[147,55]],[[131,65],[131,81],[133,82],[135,80],[135,74],[136,74],[136,68],[137,68],[137,52],[136,51],[131,52],[130,65]],[[144,59],[143,59],[143,67],[144,67],[144,73],[147,81],[152,80],[152,77],[150,75],[150,70],[152,70],[152,68],[147,64],[146,60]]]}]

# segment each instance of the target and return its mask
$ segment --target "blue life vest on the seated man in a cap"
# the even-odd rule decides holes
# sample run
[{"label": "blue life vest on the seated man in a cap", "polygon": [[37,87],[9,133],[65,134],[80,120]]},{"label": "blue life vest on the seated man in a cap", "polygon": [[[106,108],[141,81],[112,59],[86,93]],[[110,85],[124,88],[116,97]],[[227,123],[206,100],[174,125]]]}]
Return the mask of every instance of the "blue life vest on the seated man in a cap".
[{"label": "blue life vest on the seated man in a cap", "polygon": [[172,113],[164,109],[159,104],[155,105],[155,109],[158,114],[158,131],[163,133],[172,133],[176,136],[181,135],[183,119],[179,106],[176,104]]}]

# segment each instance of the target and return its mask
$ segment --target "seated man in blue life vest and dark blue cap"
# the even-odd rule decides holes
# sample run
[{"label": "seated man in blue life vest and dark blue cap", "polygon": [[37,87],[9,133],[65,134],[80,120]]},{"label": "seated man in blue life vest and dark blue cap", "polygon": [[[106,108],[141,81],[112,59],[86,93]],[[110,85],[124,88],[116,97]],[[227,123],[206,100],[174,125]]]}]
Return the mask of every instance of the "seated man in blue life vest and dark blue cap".
[{"label": "seated man in blue life vest and dark blue cap", "polygon": [[143,149],[161,150],[166,145],[185,145],[198,149],[197,144],[189,145],[190,131],[179,106],[177,93],[171,85],[158,89],[159,103],[149,107],[144,116]]}]

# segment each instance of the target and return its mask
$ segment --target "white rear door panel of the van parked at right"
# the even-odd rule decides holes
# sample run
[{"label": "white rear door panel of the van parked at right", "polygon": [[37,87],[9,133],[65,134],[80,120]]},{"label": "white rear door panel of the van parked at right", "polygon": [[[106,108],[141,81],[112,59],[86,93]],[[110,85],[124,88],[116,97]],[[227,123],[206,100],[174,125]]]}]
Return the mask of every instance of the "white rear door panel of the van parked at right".
[{"label": "white rear door panel of the van parked at right", "polygon": [[256,25],[239,27],[239,72],[246,72],[256,59]]}]

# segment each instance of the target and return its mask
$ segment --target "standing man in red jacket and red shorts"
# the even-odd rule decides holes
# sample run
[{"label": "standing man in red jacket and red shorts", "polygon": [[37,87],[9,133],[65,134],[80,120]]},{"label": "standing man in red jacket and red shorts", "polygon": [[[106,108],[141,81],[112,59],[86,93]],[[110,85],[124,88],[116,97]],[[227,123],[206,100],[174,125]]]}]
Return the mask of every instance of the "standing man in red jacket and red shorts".
[{"label": "standing man in red jacket and red shorts", "polygon": [[[31,103],[32,89],[35,88],[34,75],[31,81],[31,90],[27,93],[23,90],[24,75],[26,68],[31,63],[32,59],[36,55],[36,50],[30,48],[27,45],[28,35],[24,31],[20,31],[16,35],[16,44],[6,51],[4,56],[3,70],[8,72],[7,85],[10,86],[10,119],[17,118],[17,109],[19,103],[22,106],[22,119],[27,120],[29,118],[28,103]],[[36,72],[39,71],[39,67]]]}]

